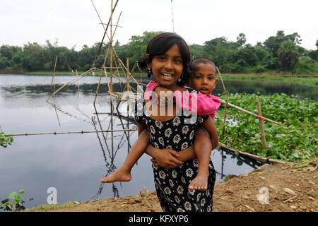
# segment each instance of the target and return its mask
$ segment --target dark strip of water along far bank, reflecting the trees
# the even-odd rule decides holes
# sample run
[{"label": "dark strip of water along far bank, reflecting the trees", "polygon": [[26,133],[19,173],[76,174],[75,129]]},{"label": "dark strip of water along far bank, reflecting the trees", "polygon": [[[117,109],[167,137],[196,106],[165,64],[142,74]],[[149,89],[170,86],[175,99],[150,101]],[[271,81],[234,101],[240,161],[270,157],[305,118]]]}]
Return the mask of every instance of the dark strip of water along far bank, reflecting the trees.
[{"label": "dark strip of water along far bank, reflecting the trees", "polygon": [[[1,81],[0,76],[0,81]],[[139,79],[139,82],[148,83],[148,78]],[[85,82],[85,81],[84,81]],[[56,89],[60,88],[62,85],[57,85]],[[98,86],[97,83],[81,83],[81,95],[92,95],[96,92]],[[131,88],[136,90],[136,83],[130,84]],[[122,92],[124,85],[114,81],[113,91]],[[247,81],[247,80],[232,80],[225,81],[225,88],[230,93],[259,93],[260,95],[273,95],[274,93],[285,93],[287,95],[295,95],[299,98],[310,97],[312,100],[318,100],[318,90],[314,86],[310,85],[300,85],[295,83],[286,82],[275,82],[275,81]],[[52,95],[51,85],[47,84],[37,84],[37,85],[5,85],[2,86],[5,97],[13,97],[15,95],[26,95],[30,98],[37,98],[37,95],[43,95],[49,97]],[[69,85],[65,90],[63,90],[63,95],[69,94],[73,95],[78,92],[77,84]],[[99,93],[107,93],[108,86],[107,83],[101,83]],[[216,85],[216,90],[213,92],[214,95],[222,94],[223,88],[222,84],[218,83]],[[59,93],[57,93],[59,95]]]}]

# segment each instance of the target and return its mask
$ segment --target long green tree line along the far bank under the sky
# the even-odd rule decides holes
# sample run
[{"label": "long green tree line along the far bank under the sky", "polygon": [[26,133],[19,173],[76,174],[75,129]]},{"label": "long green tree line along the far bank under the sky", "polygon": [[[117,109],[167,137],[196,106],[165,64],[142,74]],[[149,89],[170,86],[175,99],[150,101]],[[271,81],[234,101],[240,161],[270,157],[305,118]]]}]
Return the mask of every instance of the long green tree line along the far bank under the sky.
[{"label": "long green tree line along the far bank under the sky", "polygon": [[[143,32],[133,35],[129,43],[115,42],[114,49],[123,62],[129,58],[130,67],[146,52],[148,42],[160,32]],[[298,32],[285,35],[278,30],[276,36],[268,37],[256,45],[247,44],[244,33],[237,35],[236,41],[226,37],[216,37],[204,44],[190,44],[192,57],[208,57],[224,73],[250,73],[268,70],[289,71],[291,73],[313,74],[318,72],[318,40],[316,50],[300,47]],[[100,67],[105,59],[109,43],[102,44],[95,66]],[[57,71],[86,71],[92,67],[100,42],[91,47],[83,45],[81,50],[59,47],[46,41],[24,44],[23,47],[2,45],[0,47],[0,69],[26,69],[28,71],[52,71],[58,56]]]}]

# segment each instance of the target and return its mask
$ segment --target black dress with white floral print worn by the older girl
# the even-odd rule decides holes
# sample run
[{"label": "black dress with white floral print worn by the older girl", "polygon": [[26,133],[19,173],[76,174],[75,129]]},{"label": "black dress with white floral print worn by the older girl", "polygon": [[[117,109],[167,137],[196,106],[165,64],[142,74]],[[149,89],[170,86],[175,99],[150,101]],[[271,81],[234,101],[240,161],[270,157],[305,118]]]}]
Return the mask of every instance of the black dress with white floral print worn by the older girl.
[{"label": "black dress with white floral print worn by the older girl", "polygon": [[[189,92],[194,90],[187,88]],[[145,109],[145,110],[143,110]],[[138,112],[138,113],[137,113]],[[151,145],[155,148],[180,151],[194,143],[194,131],[199,123],[209,116],[192,117],[189,112],[182,112],[167,121],[156,121],[148,114],[143,96],[139,96],[135,105],[135,117],[138,123],[146,123],[150,133]],[[184,120],[192,118],[192,123]],[[216,172],[210,159],[208,189],[206,191],[189,190],[188,186],[196,177],[199,162],[197,159],[184,162],[175,169],[165,169],[153,164],[155,189],[160,206],[165,212],[211,212],[213,210],[213,188]]]}]

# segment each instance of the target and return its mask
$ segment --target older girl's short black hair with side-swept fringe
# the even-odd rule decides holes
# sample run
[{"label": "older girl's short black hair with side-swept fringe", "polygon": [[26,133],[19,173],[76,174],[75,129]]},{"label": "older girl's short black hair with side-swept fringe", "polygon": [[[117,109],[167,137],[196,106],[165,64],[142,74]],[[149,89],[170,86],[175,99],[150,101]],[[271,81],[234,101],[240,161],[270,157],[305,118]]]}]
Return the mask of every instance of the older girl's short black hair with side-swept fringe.
[{"label": "older girl's short black hair with side-swept fringe", "polygon": [[[185,79],[184,74],[187,69],[187,65],[190,61],[190,51],[189,47],[187,45],[187,42],[184,41],[184,39],[177,35],[176,33],[172,32],[163,32],[159,35],[156,35],[153,37],[153,39],[148,43],[146,54],[149,55],[148,58],[144,57],[143,59],[139,60],[139,66],[141,69],[146,69],[147,64],[151,63],[154,56],[158,56],[161,54],[165,54],[170,47],[172,47],[173,44],[177,44],[179,47],[179,51],[182,56],[182,64],[183,64],[183,70],[182,70],[182,76],[181,82],[178,82],[179,85],[184,85]],[[148,78],[150,75],[148,74]]]}]

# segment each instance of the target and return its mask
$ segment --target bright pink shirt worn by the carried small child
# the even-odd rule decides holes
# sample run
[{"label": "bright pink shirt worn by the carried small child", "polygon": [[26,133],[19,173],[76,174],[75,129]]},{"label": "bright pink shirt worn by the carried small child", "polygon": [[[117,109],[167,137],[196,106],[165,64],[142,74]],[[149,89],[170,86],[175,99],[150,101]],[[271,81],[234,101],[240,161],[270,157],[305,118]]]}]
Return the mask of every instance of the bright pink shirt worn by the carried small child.
[{"label": "bright pink shirt worn by the carried small child", "polygon": [[[150,100],[151,92],[155,90],[155,88],[159,85],[156,81],[150,81],[146,88],[146,98]],[[187,88],[186,86],[184,88]],[[181,108],[186,108],[190,112],[196,112],[197,115],[210,115],[212,119],[216,117],[216,110],[220,107],[220,97],[216,97],[213,95],[204,95],[202,93],[194,94],[194,93],[182,93],[177,90],[174,92],[175,100],[177,106]],[[186,99],[191,103],[191,98],[196,95],[196,109],[192,109],[191,106],[184,105],[182,102],[182,95],[186,95]]]}]

